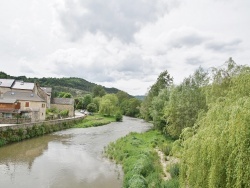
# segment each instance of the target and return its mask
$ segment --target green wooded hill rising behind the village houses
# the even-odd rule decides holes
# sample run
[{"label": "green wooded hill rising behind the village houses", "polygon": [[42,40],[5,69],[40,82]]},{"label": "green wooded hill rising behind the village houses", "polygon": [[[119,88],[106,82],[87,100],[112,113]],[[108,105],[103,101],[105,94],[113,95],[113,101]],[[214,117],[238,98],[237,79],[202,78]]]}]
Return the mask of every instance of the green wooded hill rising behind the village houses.
[{"label": "green wooded hill rising behind the village houses", "polygon": [[[0,78],[23,80],[24,82],[38,83],[41,87],[52,87],[53,95],[57,92],[69,92],[73,96],[79,96],[91,93],[95,83],[91,83],[82,78],[27,78],[26,76],[10,76],[4,72],[0,72]],[[117,88],[107,88],[102,86],[107,93],[117,93]]]}]

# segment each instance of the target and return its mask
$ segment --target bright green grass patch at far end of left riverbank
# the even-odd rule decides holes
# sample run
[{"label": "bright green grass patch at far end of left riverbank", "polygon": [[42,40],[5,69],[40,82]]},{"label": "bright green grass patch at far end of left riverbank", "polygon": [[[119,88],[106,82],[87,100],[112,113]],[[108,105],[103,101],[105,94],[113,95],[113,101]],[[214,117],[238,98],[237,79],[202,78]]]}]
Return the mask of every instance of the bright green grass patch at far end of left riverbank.
[{"label": "bright green grass patch at far end of left riverbank", "polygon": [[94,114],[86,116],[84,120],[81,123],[76,124],[74,128],[98,127],[115,121],[115,117],[107,117],[100,114]]}]

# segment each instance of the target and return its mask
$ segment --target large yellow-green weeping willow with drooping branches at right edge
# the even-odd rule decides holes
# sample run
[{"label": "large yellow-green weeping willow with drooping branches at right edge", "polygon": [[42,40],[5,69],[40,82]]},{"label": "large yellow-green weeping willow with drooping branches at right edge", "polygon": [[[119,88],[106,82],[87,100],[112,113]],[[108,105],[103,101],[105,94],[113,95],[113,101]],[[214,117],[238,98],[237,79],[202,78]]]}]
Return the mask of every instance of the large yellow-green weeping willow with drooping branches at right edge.
[{"label": "large yellow-green weeping willow with drooping branches at right edge", "polygon": [[250,187],[250,72],[228,65],[207,88],[212,100],[193,136],[183,136],[182,187]]}]

